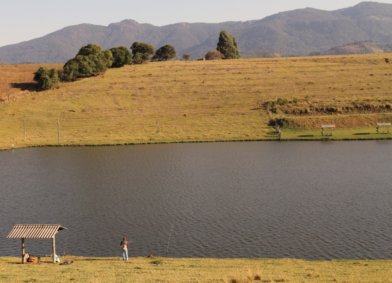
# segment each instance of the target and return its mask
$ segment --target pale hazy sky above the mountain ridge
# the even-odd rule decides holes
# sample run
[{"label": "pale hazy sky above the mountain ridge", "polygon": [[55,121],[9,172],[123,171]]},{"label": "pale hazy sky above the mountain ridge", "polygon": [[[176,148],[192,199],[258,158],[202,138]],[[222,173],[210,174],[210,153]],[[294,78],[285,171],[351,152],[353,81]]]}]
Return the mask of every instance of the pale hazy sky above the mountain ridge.
[{"label": "pale hazy sky above the mountain ridge", "polygon": [[[31,40],[78,24],[108,26],[132,19],[163,26],[179,22],[260,20],[311,7],[333,11],[363,0],[0,0],[0,47]],[[392,0],[376,1],[392,4]]]}]

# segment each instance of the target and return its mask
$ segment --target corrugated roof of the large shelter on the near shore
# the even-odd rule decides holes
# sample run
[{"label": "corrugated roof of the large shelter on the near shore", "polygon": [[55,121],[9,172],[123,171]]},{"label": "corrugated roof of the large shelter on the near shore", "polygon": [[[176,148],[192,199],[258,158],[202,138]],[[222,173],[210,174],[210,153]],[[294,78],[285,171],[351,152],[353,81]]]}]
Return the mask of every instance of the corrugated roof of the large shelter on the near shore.
[{"label": "corrugated roof of the large shelter on the near shore", "polygon": [[53,238],[63,229],[67,230],[60,225],[15,225],[7,238]]}]

